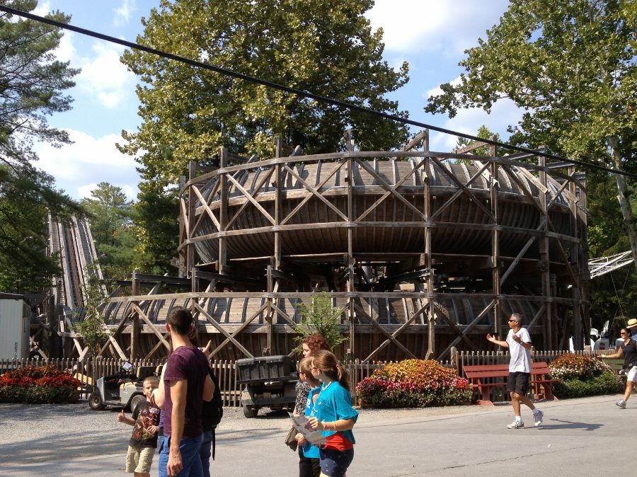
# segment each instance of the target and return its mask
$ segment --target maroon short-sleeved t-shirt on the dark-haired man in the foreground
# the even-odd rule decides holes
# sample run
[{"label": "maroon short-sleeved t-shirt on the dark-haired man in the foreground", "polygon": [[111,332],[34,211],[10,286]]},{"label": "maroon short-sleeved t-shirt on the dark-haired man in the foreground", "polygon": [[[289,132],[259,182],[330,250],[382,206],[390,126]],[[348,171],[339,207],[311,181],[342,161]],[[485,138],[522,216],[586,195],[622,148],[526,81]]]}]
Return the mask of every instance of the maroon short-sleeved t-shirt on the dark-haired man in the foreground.
[{"label": "maroon short-sleeved t-shirt on the dark-haired man in the foreground", "polygon": [[173,400],[170,381],[188,381],[185,402],[183,437],[198,437],[202,434],[201,407],[205,379],[208,375],[208,360],[196,346],[180,346],[168,357],[166,372],[163,374],[166,389],[164,404],[163,435],[172,434]]}]

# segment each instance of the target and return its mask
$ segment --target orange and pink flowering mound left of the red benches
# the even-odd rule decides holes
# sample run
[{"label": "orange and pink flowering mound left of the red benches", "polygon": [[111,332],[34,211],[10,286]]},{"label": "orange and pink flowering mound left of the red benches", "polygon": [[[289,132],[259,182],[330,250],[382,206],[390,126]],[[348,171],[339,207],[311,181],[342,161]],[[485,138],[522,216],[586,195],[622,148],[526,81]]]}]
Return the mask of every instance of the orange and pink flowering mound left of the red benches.
[{"label": "orange and pink flowering mound left of the red benches", "polygon": [[356,386],[362,406],[424,408],[469,403],[469,381],[433,360],[404,360],[377,369]]}]

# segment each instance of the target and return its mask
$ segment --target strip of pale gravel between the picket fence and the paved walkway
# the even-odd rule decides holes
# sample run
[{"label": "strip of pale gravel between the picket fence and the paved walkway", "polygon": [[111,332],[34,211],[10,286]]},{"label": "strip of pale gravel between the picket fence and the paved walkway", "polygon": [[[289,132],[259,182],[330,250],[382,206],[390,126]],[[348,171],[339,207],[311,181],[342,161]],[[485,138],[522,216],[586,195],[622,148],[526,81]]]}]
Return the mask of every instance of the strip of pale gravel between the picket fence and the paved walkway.
[{"label": "strip of pale gravel between the picket fence and the paved walkway", "polygon": [[[400,418],[489,412],[486,406],[452,406],[425,409],[362,409],[357,425]],[[86,402],[77,404],[0,404],[0,468],[11,462],[37,463],[64,459],[125,453],[131,427],[117,423],[117,408],[94,411]],[[130,414],[127,414],[130,415]],[[259,411],[255,419],[243,416],[241,408],[224,408],[217,429],[219,442],[247,437],[285,436],[289,426],[286,413]],[[1,473],[1,471],[0,471]]]}]

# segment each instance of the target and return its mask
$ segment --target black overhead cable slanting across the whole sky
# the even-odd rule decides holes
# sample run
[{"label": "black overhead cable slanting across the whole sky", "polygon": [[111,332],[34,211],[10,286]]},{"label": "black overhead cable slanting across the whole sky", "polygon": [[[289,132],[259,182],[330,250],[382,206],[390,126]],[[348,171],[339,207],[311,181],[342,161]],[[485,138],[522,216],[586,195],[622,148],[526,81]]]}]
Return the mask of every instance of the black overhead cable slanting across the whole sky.
[{"label": "black overhead cable slanting across the whole sky", "polygon": [[150,54],[156,54],[159,57],[163,57],[166,59],[172,59],[176,62],[189,64],[190,66],[207,69],[210,71],[215,71],[219,74],[224,74],[225,76],[231,76],[233,78],[243,79],[244,81],[249,81],[251,83],[260,84],[263,86],[267,86],[268,88],[277,89],[279,91],[285,91],[286,93],[295,94],[297,96],[301,96],[303,98],[310,98],[318,101],[319,103],[325,103],[328,105],[338,106],[340,108],[349,109],[352,111],[357,111],[359,113],[365,113],[369,115],[374,115],[377,117],[383,117],[386,120],[391,120],[394,122],[399,122],[403,125],[411,125],[422,128],[427,128],[432,131],[442,132],[444,134],[452,134],[458,137],[464,137],[465,139],[471,139],[472,141],[483,142],[486,144],[490,144],[493,146],[503,147],[505,149],[510,149],[512,151],[524,152],[527,154],[533,154],[534,156],[544,156],[549,159],[554,159],[556,161],[568,162],[577,166],[584,166],[595,168],[600,171],[606,171],[614,174],[619,174],[621,176],[627,176],[631,178],[637,178],[637,174],[619,171],[617,169],[608,168],[604,166],[599,166],[597,164],[587,163],[585,161],[577,161],[575,159],[568,159],[562,156],[558,156],[556,154],[551,154],[547,151],[538,151],[536,149],[529,149],[527,147],[515,146],[512,144],[504,144],[503,142],[494,141],[493,139],[486,139],[483,137],[472,136],[471,134],[465,134],[464,132],[458,132],[454,130],[447,130],[444,127],[438,127],[434,125],[428,125],[425,122],[410,120],[406,117],[400,117],[396,115],[391,115],[388,113],[384,113],[382,111],[373,110],[372,108],[366,108],[365,106],[355,105],[353,103],[347,103],[346,101],[336,100],[333,98],[328,98],[327,96],[321,96],[316,93],[312,93],[311,91],[304,91],[302,89],[292,88],[290,86],[285,86],[282,84],[274,83],[272,81],[267,81],[265,79],[256,78],[255,76],[249,76],[248,74],[238,73],[236,71],[232,71],[230,69],[216,67],[213,64],[207,64],[198,62],[194,59],[189,59],[185,57],[180,57],[177,54],[172,54],[168,52],[163,52],[161,50],[156,50],[155,48],[147,47],[144,45],[139,45],[139,43],[129,42],[126,40],[121,40],[120,38],[115,38],[110,35],[104,35],[103,33],[98,33],[93,30],[87,30],[86,28],[80,28],[74,25],[69,25],[68,23],[62,23],[59,21],[52,20],[51,18],[45,18],[43,16],[34,15],[33,13],[29,13],[27,11],[18,10],[16,8],[11,8],[8,6],[0,5],[0,11],[4,11],[6,13],[10,13],[11,15],[21,16],[23,18],[29,18],[30,20],[39,21],[41,23],[47,23],[47,25],[52,25],[57,28],[63,28],[64,30],[71,30],[76,33],[80,33],[81,35],[88,35],[93,38],[98,38],[100,40],[105,40],[112,43],[117,43],[117,45],[122,45],[132,50],[139,50],[143,52],[147,52]]}]

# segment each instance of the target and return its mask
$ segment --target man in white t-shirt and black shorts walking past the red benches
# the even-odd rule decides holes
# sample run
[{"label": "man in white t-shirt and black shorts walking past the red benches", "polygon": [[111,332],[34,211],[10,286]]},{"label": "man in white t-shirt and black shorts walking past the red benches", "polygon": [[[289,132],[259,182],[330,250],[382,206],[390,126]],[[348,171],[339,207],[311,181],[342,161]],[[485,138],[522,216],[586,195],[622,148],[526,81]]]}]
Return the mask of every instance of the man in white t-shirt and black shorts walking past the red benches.
[{"label": "man in white t-shirt and black shorts walking past the red benches", "polygon": [[511,404],[515,420],[507,425],[509,429],[522,429],[522,415],[520,413],[520,401],[533,410],[535,427],[542,424],[544,413],[537,409],[527,397],[529,380],[531,379],[531,335],[527,328],[522,328],[522,315],[514,313],[509,318],[509,334],[506,341],[499,341],[495,336],[488,334],[487,340],[495,345],[509,348],[511,361],[509,362],[509,379],[507,391],[511,395]]}]

